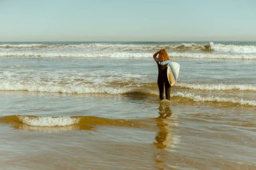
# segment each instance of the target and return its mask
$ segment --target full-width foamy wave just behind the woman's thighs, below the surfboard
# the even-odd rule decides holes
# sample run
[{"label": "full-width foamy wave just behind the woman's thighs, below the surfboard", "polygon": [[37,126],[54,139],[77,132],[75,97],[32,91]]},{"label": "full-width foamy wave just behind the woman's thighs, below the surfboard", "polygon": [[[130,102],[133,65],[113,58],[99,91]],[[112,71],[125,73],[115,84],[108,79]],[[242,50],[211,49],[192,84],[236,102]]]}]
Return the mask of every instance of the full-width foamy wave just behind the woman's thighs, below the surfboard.
[{"label": "full-width foamy wave just behind the woman's thighs, below the surfboard", "polygon": [[[108,82],[111,83],[111,82]],[[133,85],[131,85],[131,83]],[[67,84],[52,84],[52,83],[32,83],[32,82],[0,82],[1,91],[35,91],[49,93],[108,93],[108,94],[123,94],[140,91],[141,93],[150,93],[158,95],[156,83],[137,83],[123,82],[123,85],[73,85]],[[126,84],[126,85],[125,85]],[[198,89],[198,90],[216,90],[216,91],[256,91],[255,85],[225,85],[225,84],[193,84],[193,83],[177,83],[174,87],[181,89]]]}]

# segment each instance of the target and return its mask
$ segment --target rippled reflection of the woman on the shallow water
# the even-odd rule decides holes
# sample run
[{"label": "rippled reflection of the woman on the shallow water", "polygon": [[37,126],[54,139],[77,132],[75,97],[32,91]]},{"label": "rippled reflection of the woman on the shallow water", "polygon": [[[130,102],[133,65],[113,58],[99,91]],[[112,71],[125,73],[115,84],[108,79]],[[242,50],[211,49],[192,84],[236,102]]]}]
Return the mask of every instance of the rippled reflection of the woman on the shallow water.
[{"label": "rippled reflection of the woman on the shallow water", "polygon": [[160,102],[158,108],[158,118],[156,118],[156,125],[158,127],[158,132],[156,134],[156,141],[154,145],[158,148],[157,153],[154,155],[154,161],[156,163],[157,169],[164,169],[165,157],[166,157],[166,147],[171,143],[170,137],[170,116],[172,116],[172,111],[170,110],[170,103],[162,103]]}]

